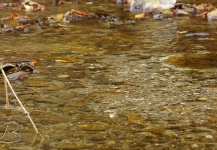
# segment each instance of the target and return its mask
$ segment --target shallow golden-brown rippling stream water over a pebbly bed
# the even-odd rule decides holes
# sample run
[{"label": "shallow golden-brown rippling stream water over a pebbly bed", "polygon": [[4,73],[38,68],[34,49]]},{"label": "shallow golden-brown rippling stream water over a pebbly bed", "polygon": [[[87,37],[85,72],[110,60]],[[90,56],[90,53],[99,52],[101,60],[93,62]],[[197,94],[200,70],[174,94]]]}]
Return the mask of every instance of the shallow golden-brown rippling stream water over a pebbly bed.
[{"label": "shallow golden-brown rippling stream water over a pebbly bed", "polygon": [[[110,1],[45,5],[44,12],[23,13],[75,8],[133,18]],[[44,137],[11,93],[5,109],[2,79],[0,131],[8,130],[1,149],[216,149],[216,25],[183,16],[112,27],[95,19],[0,34],[1,61],[39,60],[39,74],[11,83]],[[188,38],[177,31],[210,35]]]}]

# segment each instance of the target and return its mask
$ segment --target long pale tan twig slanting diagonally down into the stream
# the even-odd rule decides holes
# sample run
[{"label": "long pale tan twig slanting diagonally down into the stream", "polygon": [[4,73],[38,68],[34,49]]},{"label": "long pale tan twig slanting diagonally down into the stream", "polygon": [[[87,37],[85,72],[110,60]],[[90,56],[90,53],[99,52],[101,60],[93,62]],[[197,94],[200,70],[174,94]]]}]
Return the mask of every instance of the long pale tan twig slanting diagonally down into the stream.
[{"label": "long pale tan twig slanting diagonally down into the stream", "polygon": [[[29,118],[30,122],[32,123],[32,126],[34,127],[34,129],[35,129],[35,131],[36,131],[36,133],[39,133],[39,132],[38,132],[38,129],[36,128],[36,126],[35,126],[35,124],[34,124],[34,122],[33,122],[33,120],[32,120],[32,118],[31,118],[30,115],[29,115],[29,112],[25,109],[25,107],[24,107],[23,104],[21,103],[20,99],[18,98],[17,94],[15,93],[13,87],[11,86],[11,84],[10,84],[10,82],[9,82],[9,80],[8,80],[8,78],[7,78],[6,74],[5,74],[5,71],[4,71],[4,69],[2,68],[2,66],[1,66],[1,72],[2,72],[2,74],[3,74],[4,80],[6,81],[6,84],[8,84],[8,86],[10,87],[10,89],[11,89],[12,93],[14,94],[15,98],[17,99],[17,101],[19,102],[20,106],[21,106],[22,109],[24,110],[24,113],[25,113],[25,114],[27,115],[27,117]],[[39,134],[40,134],[40,133],[39,133]]]}]

